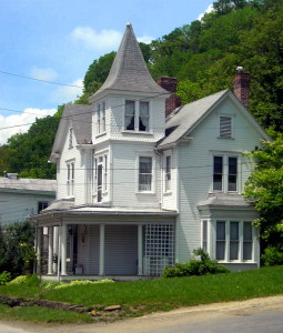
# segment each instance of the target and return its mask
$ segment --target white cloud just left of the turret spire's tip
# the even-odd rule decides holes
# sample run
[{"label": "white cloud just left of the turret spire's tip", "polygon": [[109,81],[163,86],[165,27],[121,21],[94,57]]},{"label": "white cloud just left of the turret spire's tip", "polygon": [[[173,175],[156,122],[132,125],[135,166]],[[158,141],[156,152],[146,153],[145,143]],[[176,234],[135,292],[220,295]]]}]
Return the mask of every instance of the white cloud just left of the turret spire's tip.
[{"label": "white cloud just left of the turret spire's tip", "polygon": [[82,41],[91,50],[115,50],[122,39],[122,33],[117,30],[102,30],[95,32],[89,27],[77,27],[71,37]]}]

